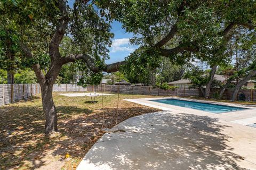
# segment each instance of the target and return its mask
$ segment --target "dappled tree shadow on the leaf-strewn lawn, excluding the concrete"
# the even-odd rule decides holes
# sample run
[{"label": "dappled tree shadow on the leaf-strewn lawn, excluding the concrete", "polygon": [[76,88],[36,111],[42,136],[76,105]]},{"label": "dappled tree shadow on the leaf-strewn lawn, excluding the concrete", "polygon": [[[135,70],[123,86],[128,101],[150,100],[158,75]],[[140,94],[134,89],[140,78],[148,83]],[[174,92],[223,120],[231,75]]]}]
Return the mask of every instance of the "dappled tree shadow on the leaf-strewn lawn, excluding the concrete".
[{"label": "dappled tree shadow on the leaf-strewn lawn, excluding the concrete", "polygon": [[[0,108],[0,168],[54,169],[63,163],[65,155],[82,159],[101,137],[102,115],[106,125],[115,125],[116,109],[57,106],[60,134],[49,139],[44,135],[45,116],[41,106],[9,105]],[[118,122],[131,116],[153,112],[152,108],[119,109]],[[137,112],[137,113],[134,113]],[[56,162],[52,164],[52,162]],[[78,162],[79,163],[79,162]],[[49,165],[47,167],[47,165]]]}]

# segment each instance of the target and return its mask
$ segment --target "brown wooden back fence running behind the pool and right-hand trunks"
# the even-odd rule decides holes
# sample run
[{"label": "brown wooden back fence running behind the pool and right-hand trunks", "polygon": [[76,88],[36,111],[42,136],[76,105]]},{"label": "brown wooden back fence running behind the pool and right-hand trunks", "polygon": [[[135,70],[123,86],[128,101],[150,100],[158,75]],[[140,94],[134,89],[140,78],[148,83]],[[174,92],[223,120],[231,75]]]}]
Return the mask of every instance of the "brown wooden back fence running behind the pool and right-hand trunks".
[{"label": "brown wooden back fence running behind the pool and right-hand trunks", "polygon": [[[87,91],[101,92],[101,86],[88,86]],[[211,89],[210,96],[214,98],[214,94],[220,89]],[[118,85],[102,85],[103,92],[117,93]],[[150,86],[119,86],[119,92],[121,94],[134,94],[134,95],[153,95],[153,96],[177,96],[177,97],[203,97],[201,91],[198,88],[178,88],[174,90],[163,90],[159,88],[153,88]],[[232,95],[233,89],[227,89],[223,94],[222,99],[229,100]],[[239,92],[243,92],[246,99],[249,101],[256,101],[256,89],[241,89]]]}]

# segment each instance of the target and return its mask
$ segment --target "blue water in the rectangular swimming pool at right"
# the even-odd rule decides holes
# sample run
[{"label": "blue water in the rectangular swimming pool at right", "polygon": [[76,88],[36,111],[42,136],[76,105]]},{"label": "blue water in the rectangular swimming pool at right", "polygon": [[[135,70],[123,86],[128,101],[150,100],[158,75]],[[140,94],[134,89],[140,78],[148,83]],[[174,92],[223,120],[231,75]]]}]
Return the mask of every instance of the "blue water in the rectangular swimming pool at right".
[{"label": "blue water in the rectangular swimming pool at right", "polygon": [[233,111],[242,111],[246,109],[242,107],[214,105],[214,104],[200,103],[196,101],[178,100],[178,99],[164,99],[164,100],[151,100],[151,101],[156,101],[158,103],[164,103],[168,105],[194,108],[197,110],[211,112],[211,113],[225,113],[225,112],[233,112]]}]

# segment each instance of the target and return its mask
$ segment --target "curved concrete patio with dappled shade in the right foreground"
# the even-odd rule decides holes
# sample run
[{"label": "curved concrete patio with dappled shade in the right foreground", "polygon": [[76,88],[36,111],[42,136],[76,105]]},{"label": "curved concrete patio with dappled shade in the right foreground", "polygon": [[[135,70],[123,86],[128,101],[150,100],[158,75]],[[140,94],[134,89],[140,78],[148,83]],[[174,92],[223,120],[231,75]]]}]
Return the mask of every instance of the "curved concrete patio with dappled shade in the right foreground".
[{"label": "curved concrete patio with dappled shade in the right foreground", "polygon": [[118,125],[87,152],[78,170],[256,169],[256,128],[162,111]]}]

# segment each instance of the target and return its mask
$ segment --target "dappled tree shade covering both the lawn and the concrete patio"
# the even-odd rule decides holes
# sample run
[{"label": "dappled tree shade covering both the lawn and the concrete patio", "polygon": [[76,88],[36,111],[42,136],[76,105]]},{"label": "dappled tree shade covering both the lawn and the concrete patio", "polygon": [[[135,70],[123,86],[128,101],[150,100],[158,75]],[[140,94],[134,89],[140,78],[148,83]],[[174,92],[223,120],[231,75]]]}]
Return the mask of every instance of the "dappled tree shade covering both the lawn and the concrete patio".
[{"label": "dappled tree shade covering both the lawn and the concrete patio", "polygon": [[[116,114],[119,123],[133,116],[155,112],[154,108],[149,107],[119,108],[117,112],[115,108],[105,108],[92,112],[76,106],[57,106],[57,110],[60,135],[49,139],[44,136],[45,117],[41,106],[10,105],[0,108],[2,169],[58,169],[60,164],[68,161],[65,158],[67,154],[75,158],[78,164],[105,133],[101,130],[103,115],[105,127],[112,128],[116,123]],[[145,154],[149,155],[152,150],[145,151],[153,146],[154,159],[140,162],[141,167],[164,169],[167,165],[161,159],[164,156],[168,158],[167,169],[214,169],[216,166],[243,169],[236,163],[243,158],[226,145],[230,137],[221,132],[228,127],[218,124],[216,119],[188,114],[147,115],[134,117],[132,124],[120,126],[125,130],[121,137],[125,140],[120,148],[128,149],[111,154],[111,147],[104,150],[98,148],[99,153],[97,157],[90,158],[91,162],[117,169],[122,169],[123,165],[126,169],[134,169],[136,161],[145,157]],[[131,133],[138,135],[134,137]],[[133,148],[142,155],[131,159]],[[101,156],[104,155],[111,159],[103,162]]]}]

